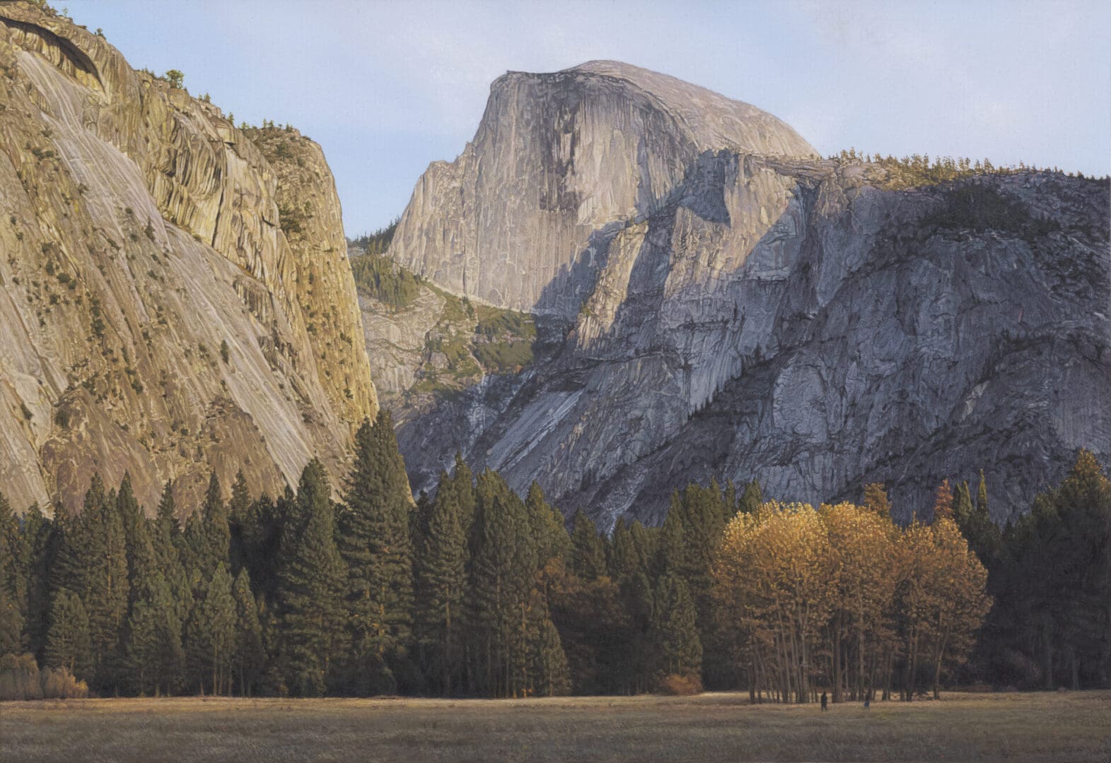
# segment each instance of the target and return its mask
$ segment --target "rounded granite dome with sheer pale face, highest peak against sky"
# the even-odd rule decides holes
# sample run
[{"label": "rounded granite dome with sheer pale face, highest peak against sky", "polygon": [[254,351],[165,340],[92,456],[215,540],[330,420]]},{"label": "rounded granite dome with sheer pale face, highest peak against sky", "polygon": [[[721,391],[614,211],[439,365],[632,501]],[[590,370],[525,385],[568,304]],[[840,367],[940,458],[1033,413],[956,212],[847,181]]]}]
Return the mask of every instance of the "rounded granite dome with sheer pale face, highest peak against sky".
[{"label": "rounded granite dome with sheer pale face, highest peak against sky", "polygon": [[771,114],[624,63],[510,72],[459,159],[417,183],[390,254],[457,294],[570,318],[611,227],[662,209],[703,151],[724,148],[815,155]]}]

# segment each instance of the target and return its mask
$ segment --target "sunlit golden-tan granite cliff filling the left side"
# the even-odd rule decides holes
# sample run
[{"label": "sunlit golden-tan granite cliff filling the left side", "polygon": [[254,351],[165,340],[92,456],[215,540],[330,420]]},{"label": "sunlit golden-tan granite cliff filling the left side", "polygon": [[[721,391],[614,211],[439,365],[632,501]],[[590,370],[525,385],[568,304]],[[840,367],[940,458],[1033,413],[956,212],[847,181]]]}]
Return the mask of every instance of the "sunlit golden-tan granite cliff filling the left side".
[{"label": "sunlit golden-tan granite cliff filling the left side", "polygon": [[342,472],[377,396],[320,148],[28,3],[0,4],[0,491],[74,509],[130,472],[150,510],[213,469]]}]

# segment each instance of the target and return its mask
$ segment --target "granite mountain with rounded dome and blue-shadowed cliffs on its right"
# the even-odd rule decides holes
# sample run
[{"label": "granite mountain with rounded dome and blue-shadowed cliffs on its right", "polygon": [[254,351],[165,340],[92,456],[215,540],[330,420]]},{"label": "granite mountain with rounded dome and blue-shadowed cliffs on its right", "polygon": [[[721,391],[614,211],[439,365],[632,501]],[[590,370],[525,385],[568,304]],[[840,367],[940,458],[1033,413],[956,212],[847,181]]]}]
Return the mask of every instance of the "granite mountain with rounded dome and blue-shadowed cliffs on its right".
[{"label": "granite mountain with rounded dome and blue-shadowed cliffs on its right", "polygon": [[982,468],[1004,519],[1075,449],[1111,456],[1105,181],[900,189],[749,109],[623,64],[494,83],[390,252],[562,343],[411,416],[414,486],[459,449],[603,526],[711,478],[884,482],[905,520]]}]

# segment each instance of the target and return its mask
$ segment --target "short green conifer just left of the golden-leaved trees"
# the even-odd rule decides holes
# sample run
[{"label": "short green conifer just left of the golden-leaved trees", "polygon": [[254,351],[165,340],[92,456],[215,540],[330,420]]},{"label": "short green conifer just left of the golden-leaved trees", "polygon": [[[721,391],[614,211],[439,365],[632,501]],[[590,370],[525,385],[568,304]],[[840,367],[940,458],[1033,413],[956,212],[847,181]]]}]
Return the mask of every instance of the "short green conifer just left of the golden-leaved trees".
[{"label": "short green conifer just left of the golden-leaved trees", "polygon": [[665,574],[657,584],[649,642],[657,680],[701,674],[702,643],[695,625],[694,601],[687,584],[675,574]]}]

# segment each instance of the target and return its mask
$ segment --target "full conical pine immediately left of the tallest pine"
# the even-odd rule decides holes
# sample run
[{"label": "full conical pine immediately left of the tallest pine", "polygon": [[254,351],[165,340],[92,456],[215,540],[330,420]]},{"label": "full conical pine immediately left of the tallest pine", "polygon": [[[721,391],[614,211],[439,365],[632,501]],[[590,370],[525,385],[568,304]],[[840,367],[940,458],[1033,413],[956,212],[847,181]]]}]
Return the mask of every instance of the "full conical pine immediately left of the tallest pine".
[{"label": "full conical pine immediately left of the tallest pine", "polygon": [[313,459],[301,472],[282,538],[277,598],[286,685],[299,696],[324,693],[343,631],[346,570],[336,549],[331,489]]}]

